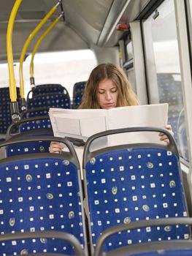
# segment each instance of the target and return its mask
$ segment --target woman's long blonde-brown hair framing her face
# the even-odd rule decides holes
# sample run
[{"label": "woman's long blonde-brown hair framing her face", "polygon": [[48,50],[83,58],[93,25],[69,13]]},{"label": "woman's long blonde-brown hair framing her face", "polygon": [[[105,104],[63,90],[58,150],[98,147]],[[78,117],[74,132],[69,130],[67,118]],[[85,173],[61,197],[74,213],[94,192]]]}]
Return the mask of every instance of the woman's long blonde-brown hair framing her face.
[{"label": "woman's long blonde-brown hair framing her face", "polygon": [[131,89],[123,69],[115,64],[104,63],[95,67],[88,78],[85,92],[82,96],[82,103],[79,108],[100,108],[97,95],[101,80],[110,79],[118,87],[117,107],[139,105],[136,94]]}]

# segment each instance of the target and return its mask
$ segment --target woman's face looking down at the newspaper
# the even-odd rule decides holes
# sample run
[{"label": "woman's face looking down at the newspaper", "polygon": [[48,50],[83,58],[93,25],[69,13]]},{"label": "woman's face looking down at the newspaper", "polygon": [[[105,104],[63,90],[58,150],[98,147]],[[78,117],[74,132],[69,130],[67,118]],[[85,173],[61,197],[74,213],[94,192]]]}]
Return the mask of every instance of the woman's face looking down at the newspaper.
[{"label": "woman's face looking down at the newspaper", "polygon": [[118,87],[110,79],[101,80],[97,99],[100,108],[116,108],[118,103]]}]

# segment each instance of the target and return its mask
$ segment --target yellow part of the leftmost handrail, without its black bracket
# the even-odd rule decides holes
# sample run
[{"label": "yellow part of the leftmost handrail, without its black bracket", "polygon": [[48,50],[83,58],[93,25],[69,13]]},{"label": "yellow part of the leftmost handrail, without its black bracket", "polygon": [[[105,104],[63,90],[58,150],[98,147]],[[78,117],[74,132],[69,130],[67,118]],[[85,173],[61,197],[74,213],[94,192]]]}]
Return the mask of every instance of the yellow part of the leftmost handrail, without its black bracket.
[{"label": "yellow part of the leftmost handrail, without its black bracket", "polygon": [[9,94],[11,102],[17,101],[17,91],[15,82],[15,73],[13,68],[13,56],[12,56],[12,30],[15,22],[15,17],[18,12],[18,8],[23,0],[16,0],[12,8],[12,12],[9,17],[9,23],[7,26],[7,62],[9,69]]}]

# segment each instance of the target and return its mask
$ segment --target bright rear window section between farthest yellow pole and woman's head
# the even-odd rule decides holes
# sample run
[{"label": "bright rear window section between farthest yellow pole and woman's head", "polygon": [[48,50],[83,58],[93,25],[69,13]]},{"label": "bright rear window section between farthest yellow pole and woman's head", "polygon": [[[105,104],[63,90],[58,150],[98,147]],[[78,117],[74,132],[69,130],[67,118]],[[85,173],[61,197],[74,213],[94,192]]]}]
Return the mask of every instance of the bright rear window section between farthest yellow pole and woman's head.
[{"label": "bright rear window section between farthest yellow pole and woman's head", "polygon": [[34,59],[34,77],[37,84],[61,83],[72,99],[74,83],[87,80],[95,66],[92,50],[39,53]]}]

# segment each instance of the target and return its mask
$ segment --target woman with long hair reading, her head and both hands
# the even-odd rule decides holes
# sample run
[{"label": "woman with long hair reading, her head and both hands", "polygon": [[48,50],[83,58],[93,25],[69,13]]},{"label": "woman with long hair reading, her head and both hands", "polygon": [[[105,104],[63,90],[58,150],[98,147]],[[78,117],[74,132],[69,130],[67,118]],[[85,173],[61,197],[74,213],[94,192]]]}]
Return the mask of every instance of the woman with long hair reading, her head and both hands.
[{"label": "woman with long hair reading, her head and both hands", "polygon": [[[112,63],[104,63],[92,70],[79,108],[110,109],[133,105],[139,105],[139,100],[131,89],[123,69]],[[171,125],[167,124],[164,128],[172,132]],[[166,135],[160,133],[159,136],[160,140],[169,143]],[[50,143],[50,153],[61,153],[62,148],[60,143]]]}]

